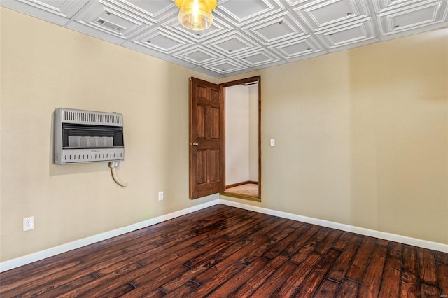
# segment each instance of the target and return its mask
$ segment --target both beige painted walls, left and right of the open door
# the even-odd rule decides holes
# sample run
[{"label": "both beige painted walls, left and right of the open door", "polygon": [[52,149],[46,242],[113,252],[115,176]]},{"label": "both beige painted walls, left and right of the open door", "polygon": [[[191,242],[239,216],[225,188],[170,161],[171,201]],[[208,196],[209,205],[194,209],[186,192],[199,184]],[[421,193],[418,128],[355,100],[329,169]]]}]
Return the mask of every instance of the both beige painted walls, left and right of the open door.
[{"label": "both beige painted walls, left and right of the open door", "polygon": [[[216,198],[188,199],[188,77],[218,80],[0,13],[1,261]],[[262,76],[260,205],[448,243],[447,52],[441,29],[221,80]],[[124,114],[126,189],[52,164],[59,107]]]}]

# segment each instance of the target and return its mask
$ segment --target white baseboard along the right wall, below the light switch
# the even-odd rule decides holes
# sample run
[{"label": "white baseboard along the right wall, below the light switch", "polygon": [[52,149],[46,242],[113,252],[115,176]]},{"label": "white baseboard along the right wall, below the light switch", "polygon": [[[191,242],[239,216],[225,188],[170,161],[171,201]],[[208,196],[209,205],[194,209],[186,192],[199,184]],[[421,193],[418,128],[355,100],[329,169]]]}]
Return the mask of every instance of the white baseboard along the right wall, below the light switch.
[{"label": "white baseboard along the right wall, below the light switch", "polygon": [[361,234],[364,236],[372,236],[379,239],[384,239],[388,241],[395,241],[404,244],[409,244],[410,246],[418,246],[421,248],[428,248],[430,250],[437,250],[443,253],[448,253],[448,244],[437,243],[432,241],[426,241],[416,238],[411,238],[407,236],[391,234],[386,232],[379,232],[373,229],[365,229],[363,227],[354,227],[352,225],[344,225],[338,222],[330,222],[328,220],[319,220],[316,218],[308,218],[307,216],[297,215],[293,213],[287,213],[282,211],[275,211],[267,208],[262,208],[258,206],[251,206],[246,204],[237,203],[235,201],[228,201],[225,199],[219,199],[219,204],[228,205],[237,208],[243,208],[250,211],[255,211],[259,213],[264,213],[268,215],[278,216],[280,218],[288,218],[290,220],[297,220],[300,222],[307,222],[312,225],[320,225],[322,227],[330,227],[332,229],[340,229],[345,232],[352,232],[356,234]]}]

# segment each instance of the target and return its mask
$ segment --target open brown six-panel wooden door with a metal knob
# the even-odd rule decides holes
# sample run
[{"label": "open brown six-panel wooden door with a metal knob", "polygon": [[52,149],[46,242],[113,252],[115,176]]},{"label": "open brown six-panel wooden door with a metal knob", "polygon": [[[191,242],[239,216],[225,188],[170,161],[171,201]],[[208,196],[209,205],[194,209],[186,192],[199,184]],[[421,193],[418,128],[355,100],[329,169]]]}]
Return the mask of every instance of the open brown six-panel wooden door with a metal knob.
[{"label": "open brown six-panel wooden door with a metal knob", "polygon": [[190,78],[190,199],[225,190],[224,89]]}]

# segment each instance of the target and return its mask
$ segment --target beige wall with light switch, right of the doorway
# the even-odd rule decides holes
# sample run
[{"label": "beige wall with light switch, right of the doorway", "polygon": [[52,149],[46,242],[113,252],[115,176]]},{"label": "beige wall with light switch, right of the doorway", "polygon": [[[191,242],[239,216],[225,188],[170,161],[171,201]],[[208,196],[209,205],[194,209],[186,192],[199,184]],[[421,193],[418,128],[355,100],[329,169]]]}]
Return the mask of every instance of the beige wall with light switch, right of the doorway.
[{"label": "beige wall with light switch, right of the doorway", "polygon": [[262,203],[245,203],[448,244],[448,29],[260,73]]}]

